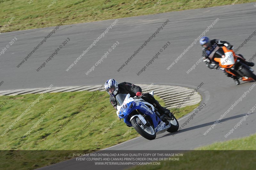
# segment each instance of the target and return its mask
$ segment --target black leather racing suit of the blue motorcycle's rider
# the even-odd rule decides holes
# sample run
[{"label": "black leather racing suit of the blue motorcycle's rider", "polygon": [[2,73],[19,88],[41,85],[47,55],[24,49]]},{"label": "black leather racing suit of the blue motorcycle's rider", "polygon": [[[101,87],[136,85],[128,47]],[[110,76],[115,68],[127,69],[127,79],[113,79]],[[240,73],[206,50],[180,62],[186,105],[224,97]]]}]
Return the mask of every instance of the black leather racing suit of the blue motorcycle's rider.
[{"label": "black leather racing suit of the blue motorcycle's rider", "polygon": [[[137,92],[142,93],[142,89],[140,88],[140,86],[136,86],[136,85],[134,85],[132,83],[128,83],[128,82],[122,82],[122,83],[118,84],[117,94],[130,94],[131,97],[135,97]],[[152,104],[156,109],[158,109],[162,113],[165,112],[166,110],[168,110],[168,109],[162,107],[158,103],[158,101],[154,98],[154,96],[152,96],[149,93],[144,93],[143,97],[141,97],[141,98],[143,100],[145,100],[146,102]],[[116,98],[113,96],[110,96],[109,100],[110,100],[110,103],[113,105],[113,107],[116,109],[116,106],[117,106]]]}]

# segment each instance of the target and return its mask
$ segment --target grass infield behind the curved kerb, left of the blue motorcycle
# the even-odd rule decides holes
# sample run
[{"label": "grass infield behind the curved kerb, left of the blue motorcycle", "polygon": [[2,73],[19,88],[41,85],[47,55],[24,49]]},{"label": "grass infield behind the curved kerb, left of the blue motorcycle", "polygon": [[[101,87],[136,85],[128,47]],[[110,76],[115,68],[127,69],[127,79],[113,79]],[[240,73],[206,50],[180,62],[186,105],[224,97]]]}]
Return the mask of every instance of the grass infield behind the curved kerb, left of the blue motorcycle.
[{"label": "grass infield behind the curved kerb, left of the blue motorcycle", "polygon": [[[74,150],[88,153],[139,136],[132,129],[124,137],[129,127],[123,120],[117,119],[116,110],[109,103],[109,95],[98,92],[91,98],[93,93],[95,92],[47,93],[11,129],[9,126],[12,122],[40,95],[0,96],[1,103],[5,103],[0,114],[0,147],[1,150],[6,150],[1,151],[3,167],[34,169],[70,159]],[[156,99],[164,105],[162,99],[157,96]],[[89,103],[79,111],[85,101]],[[183,115],[193,110],[193,106],[187,107],[189,108],[181,108],[177,112]],[[4,134],[6,129],[9,130]],[[55,152],[49,153],[49,150]]]}]

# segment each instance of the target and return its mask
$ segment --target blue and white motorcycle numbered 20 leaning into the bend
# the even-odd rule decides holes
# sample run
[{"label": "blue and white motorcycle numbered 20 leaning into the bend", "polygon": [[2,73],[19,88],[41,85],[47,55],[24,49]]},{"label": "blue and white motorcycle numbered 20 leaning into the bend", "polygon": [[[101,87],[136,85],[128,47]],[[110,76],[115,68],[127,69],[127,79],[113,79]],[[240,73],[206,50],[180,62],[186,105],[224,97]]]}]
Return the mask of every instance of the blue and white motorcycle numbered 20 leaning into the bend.
[{"label": "blue and white motorcycle numbered 20 leaning into the bend", "polygon": [[[154,96],[153,91],[150,94]],[[179,122],[174,115],[161,115],[152,104],[142,98],[130,97],[130,94],[118,94],[116,101],[117,116],[148,140],[155,139],[156,134],[166,131],[172,133],[179,129]]]}]

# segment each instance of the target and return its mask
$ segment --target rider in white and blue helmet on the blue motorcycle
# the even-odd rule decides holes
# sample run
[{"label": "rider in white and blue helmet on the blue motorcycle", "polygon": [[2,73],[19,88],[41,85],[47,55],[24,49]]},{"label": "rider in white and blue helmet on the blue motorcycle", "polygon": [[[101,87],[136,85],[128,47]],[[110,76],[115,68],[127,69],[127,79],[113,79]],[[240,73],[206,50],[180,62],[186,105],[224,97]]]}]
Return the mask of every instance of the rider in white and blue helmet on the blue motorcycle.
[{"label": "rider in white and blue helmet on the blue motorcycle", "polygon": [[159,104],[159,102],[149,93],[142,93],[140,86],[136,86],[132,83],[122,82],[117,83],[114,79],[109,79],[105,83],[105,89],[110,95],[109,100],[113,107],[116,109],[116,95],[117,94],[130,94],[131,97],[142,98],[146,102],[152,104],[160,114],[165,114],[167,116],[172,116],[170,110],[164,108]]}]

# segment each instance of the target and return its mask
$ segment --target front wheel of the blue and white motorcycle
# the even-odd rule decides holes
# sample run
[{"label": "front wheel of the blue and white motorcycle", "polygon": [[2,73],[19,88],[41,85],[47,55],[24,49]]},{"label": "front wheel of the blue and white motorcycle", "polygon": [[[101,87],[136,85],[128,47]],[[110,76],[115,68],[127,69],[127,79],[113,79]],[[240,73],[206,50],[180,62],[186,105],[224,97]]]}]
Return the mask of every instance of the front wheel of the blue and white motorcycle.
[{"label": "front wheel of the blue and white motorcycle", "polygon": [[144,125],[140,118],[138,116],[135,116],[132,120],[132,127],[144,138],[148,139],[148,140],[153,140],[156,138],[156,131],[154,130],[154,128],[152,127],[152,125],[150,125],[149,122],[147,122],[147,124],[149,126]]}]

